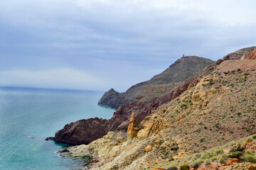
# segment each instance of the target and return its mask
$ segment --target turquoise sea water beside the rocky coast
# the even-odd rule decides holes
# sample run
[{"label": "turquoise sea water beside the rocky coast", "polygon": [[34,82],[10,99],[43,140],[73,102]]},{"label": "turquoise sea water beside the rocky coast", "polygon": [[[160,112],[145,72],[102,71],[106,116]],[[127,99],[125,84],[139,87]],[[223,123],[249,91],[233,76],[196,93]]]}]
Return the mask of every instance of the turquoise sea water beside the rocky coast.
[{"label": "turquoise sea water beside the rocky coast", "polygon": [[61,158],[55,153],[65,145],[44,138],[76,120],[111,118],[114,110],[97,106],[102,94],[0,87],[0,169],[80,168],[80,160]]}]

